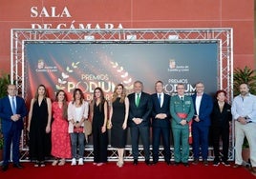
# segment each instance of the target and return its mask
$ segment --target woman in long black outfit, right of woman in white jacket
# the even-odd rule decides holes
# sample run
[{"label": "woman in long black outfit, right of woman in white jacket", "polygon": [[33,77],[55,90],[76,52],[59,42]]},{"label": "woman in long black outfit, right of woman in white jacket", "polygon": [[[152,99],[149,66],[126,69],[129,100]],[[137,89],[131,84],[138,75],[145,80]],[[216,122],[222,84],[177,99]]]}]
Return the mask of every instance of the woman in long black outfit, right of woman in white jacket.
[{"label": "woman in long black outfit, right of woman in white jacket", "polygon": [[91,117],[93,119],[94,165],[102,166],[107,162],[108,135],[106,130],[108,104],[103,90],[94,90],[94,99],[91,102]]}]

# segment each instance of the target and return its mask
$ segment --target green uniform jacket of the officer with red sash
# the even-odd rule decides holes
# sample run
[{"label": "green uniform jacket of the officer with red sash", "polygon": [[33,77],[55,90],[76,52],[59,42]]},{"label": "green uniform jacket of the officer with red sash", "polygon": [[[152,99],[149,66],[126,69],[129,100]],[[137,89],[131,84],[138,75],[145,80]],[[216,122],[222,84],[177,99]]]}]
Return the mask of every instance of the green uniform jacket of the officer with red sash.
[{"label": "green uniform jacket of the officer with red sash", "polygon": [[190,122],[195,114],[194,104],[191,96],[184,95],[183,102],[179,95],[172,96],[171,98],[171,115],[172,115],[172,128],[184,129],[189,128],[188,125],[181,126],[181,118],[178,116],[178,113],[187,114],[185,120]]}]

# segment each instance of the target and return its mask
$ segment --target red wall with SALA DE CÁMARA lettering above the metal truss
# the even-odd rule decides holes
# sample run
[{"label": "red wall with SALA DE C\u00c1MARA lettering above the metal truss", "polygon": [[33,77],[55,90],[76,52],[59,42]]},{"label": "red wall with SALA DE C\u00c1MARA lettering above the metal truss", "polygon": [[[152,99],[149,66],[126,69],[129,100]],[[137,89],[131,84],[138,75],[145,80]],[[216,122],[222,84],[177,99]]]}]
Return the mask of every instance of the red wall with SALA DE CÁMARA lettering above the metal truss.
[{"label": "red wall with SALA DE C\u00c1MARA lettering above the metal truss", "polygon": [[[31,29],[32,24],[55,28],[72,21],[78,24],[121,24],[124,29],[233,28],[234,67],[254,68],[253,0],[1,0],[0,69],[10,72],[11,29]],[[32,12],[37,7],[41,17]],[[56,7],[55,15],[51,7]],[[67,7],[71,17],[54,17]]]}]

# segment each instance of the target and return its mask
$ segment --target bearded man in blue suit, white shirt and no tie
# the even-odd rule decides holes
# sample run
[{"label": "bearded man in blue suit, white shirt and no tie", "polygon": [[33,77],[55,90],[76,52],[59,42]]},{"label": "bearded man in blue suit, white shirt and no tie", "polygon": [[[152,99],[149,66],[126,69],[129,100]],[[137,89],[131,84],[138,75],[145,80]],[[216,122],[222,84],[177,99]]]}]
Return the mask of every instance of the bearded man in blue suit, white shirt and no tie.
[{"label": "bearded man in blue suit, white shirt and no tie", "polygon": [[208,166],[208,133],[210,126],[210,114],[213,109],[212,97],[203,92],[202,82],[196,84],[196,93],[192,95],[195,115],[192,123],[194,165],[199,163],[200,146],[203,157],[203,165]]}]

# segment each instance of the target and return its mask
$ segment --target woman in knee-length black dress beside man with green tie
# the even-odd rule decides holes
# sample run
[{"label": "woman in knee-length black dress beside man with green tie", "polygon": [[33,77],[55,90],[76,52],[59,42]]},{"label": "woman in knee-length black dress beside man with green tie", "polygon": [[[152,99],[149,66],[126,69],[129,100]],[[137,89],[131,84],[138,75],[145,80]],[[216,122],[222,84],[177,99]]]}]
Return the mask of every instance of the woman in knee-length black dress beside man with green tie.
[{"label": "woman in knee-length black dress beside man with green tie", "polygon": [[127,138],[127,119],[129,113],[129,100],[126,97],[122,84],[118,84],[114,90],[112,105],[110,108],[111,146],[117,148],[117,166],[123,166],[123,152]]}]

